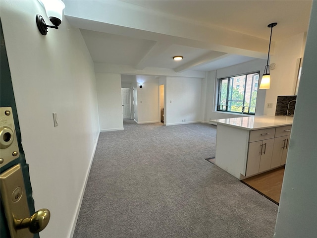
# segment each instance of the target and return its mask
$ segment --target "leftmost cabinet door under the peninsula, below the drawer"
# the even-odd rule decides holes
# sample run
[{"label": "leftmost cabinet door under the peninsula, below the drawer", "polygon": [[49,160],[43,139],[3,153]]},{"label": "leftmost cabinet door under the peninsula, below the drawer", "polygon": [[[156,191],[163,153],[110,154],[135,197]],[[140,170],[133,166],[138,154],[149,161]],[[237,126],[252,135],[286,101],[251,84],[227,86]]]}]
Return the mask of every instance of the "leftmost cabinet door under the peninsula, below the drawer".
[{"label": "leftmost cabinet door under the peninsula, below the drawer", "polygon": [[246,176],[259,173],[262,147],[262,141],[249,143]]}]

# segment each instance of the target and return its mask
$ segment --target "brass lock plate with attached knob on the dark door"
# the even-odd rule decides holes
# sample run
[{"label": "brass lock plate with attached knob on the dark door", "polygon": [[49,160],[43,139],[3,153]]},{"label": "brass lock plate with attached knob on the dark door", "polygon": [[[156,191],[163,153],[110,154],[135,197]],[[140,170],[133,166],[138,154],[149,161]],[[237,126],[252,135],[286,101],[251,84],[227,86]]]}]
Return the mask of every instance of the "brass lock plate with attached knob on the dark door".
[{"label": "brass lock plate with attached knob on the dark door", "polygon": [[20,164],[0,174],[0,187],[11,238],[33,238],[33,233],[46,228],[51,216],[48,209],[40,209],[30,217]]}]

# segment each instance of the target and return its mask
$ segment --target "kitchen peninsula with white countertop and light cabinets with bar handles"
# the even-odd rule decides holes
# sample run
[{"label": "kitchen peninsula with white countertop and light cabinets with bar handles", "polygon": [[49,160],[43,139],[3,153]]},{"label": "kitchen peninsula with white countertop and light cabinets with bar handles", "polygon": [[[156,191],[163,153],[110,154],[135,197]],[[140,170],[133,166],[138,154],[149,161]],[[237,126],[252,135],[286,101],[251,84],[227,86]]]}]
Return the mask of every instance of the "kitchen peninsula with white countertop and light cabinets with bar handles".
[{"label": "kitchen peninsula with white countertop and light cabinets with bar handles", "polygon": [[238,179],[286,163],[292,117],[253,116],[214,119],[217,123],[215,164]]}]

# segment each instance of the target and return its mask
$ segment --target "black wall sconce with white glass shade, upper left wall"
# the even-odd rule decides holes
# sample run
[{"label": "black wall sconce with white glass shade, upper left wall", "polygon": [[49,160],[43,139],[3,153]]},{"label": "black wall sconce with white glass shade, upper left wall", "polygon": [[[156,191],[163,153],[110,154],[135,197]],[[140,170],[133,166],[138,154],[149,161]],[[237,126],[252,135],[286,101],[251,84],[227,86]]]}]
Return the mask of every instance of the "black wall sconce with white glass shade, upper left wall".
[{"label": "black wall sconce with white glass shade, upper left wall", "polygon": [[62,20],[62,12],[65,8],[64,2],[61,0],[38,0],[45,8],[47,16],[50,18],[50,21],[53,23],[53,26],[49,26],[45,23],[43,17],[40,14],[36,15],[36,24],[39,28],[39,31],[42,35],[46,35],[48,28],[58,29],[58,26]]}]

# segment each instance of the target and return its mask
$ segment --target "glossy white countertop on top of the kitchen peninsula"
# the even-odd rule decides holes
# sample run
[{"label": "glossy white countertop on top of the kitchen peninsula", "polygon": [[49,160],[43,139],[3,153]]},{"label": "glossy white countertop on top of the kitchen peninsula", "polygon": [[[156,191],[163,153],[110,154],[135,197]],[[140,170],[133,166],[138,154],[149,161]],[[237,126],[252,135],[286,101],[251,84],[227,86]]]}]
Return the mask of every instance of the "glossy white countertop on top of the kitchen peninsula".
[{"label": "glossy white countertop on top of the kitchen peninsula", "polygon": [[228,126],[239,127],[246,130],[259,130],[283,125],[293,124],[292,117],[286,116],[253,116],[242,118],[214,119],[211,122]]}]

